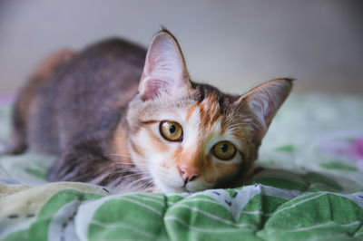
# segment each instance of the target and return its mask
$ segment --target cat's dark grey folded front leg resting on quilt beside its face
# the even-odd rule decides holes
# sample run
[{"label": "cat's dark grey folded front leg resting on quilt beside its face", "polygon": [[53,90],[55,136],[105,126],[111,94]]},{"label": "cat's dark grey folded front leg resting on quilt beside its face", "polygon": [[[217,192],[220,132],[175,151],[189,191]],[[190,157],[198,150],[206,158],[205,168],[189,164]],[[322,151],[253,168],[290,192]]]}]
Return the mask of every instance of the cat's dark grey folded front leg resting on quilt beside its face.
[{"label": "cat's dark grey folded front leg resting on quilt beside its face", "polygon": [[104,139],[103,134],[89,134],[68,145],[48,169],[48,180],[88,182],[120,193],[157,191],[140,188],[142,173],[135,171],[133,164],[111,159],[104,150],[107,149]]}]

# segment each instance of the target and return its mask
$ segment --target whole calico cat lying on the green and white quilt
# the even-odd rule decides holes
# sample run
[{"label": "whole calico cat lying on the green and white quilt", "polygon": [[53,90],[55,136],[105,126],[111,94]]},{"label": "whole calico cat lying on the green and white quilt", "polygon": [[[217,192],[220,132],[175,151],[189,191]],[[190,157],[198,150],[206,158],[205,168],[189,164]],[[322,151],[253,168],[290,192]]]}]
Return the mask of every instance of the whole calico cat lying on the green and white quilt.
[{"label": "whole calico cat lying on the green and white quilt", "polygon": [[19,92],[3,154],[54,154],[49,180],[116,192],[234,188],[291,88],[280,78],[235,95],[192,82],[165,29],[147,51],[122,39],[64,49]]}]

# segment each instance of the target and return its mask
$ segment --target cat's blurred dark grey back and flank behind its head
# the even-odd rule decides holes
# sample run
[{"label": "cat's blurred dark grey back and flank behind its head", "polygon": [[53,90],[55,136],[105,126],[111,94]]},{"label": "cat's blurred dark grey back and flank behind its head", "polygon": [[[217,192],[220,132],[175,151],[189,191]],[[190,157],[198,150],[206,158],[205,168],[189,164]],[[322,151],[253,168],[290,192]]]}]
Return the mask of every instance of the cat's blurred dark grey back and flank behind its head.
[{"label": "cat's blurred dark grey back and flank behind its head", "polygon": [[34,149],[59,152],[88,133],[112,131],[137,93],[145,55],[117,38],[74,54],[39,86],[29,123]]}]

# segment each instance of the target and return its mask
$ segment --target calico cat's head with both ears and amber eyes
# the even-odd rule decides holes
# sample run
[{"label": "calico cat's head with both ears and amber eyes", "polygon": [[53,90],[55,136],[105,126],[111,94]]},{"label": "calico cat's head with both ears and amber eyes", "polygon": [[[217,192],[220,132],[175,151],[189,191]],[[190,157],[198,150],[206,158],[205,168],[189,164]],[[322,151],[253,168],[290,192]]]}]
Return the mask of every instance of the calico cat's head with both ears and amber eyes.
[{"label": "calico cat's head with both ears and amber eyes", "polygon": [[289,79],[277,79],[231,95],[191,82],[179,44],[162,31],[152,39],[129,104],[133,162],[167,193],[239,185],[291,87]]}]

